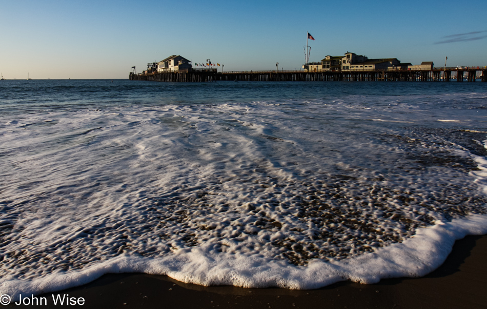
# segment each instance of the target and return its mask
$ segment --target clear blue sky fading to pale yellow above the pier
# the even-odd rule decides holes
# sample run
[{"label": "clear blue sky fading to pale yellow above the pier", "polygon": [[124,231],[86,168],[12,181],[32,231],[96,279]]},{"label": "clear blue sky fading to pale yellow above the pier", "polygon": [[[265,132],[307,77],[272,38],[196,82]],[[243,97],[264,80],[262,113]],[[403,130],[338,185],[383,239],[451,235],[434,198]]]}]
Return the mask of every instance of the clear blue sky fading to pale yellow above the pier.
[{"label": "clear blue sky fading to pale yellow above the pier", "polygon": [[176,54],[225,70],[299,69],[350,51],[403,63],[487,65],[487,0],[0,0],[6,79],[126,79]]}]

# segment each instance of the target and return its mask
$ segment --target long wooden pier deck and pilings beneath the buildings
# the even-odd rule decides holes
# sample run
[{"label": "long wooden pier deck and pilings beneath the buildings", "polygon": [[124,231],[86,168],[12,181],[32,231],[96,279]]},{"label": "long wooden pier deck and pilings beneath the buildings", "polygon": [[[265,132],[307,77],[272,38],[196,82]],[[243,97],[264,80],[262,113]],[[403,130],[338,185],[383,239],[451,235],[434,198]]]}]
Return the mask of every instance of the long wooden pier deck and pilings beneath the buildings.
[{"label": "long wooden pier deck and pilings beneath the buildings", "polygon": [[[186,70],[178,72],[130,73],[131,81],[154,82],[213,82],[213,81],[350,81],[350,82],[475,82],[477,72],[481,81],[487,82],[487,67],[434,68],[432,70],[374,70],[374,71],[238,71]],[[455,74],[452,74],[454,73]],[[464,74],[466,72],[466,78]]]}]

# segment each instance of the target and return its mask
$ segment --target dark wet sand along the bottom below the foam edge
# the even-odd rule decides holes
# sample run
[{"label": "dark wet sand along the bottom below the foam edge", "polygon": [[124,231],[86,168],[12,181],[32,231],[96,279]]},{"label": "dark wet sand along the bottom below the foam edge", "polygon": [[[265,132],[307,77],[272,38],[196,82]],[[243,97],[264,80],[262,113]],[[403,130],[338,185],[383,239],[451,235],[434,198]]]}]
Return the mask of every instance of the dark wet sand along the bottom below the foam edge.
[{"label": "dark wet sand along the bottom below the foam edge", "polygon": [[[167,276],[108,274],[53,294],[83,297],[83,306],[70,306],[83,308],[486,308],[487,236],[458,240],[443,265],[425,277],[384,279],[370,285],[340,282],[290,291],[205,287]],[[42,297],[47,297],[48,305],[38,307],[60,307],[53,305],[51,294]]]}]

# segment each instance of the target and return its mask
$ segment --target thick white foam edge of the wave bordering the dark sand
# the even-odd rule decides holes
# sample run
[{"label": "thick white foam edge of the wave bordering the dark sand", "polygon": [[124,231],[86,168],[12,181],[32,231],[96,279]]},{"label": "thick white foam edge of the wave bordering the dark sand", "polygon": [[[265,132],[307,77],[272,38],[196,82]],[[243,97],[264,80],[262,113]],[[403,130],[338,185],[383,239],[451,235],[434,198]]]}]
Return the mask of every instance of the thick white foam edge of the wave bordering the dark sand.
[{"label": "thick white foam edge of the wave bordering the dark sand", "polygon": [[377,248],[354,259],[312,260],[306,267],[259,256],[223,253],[210,257],[205,247],[179,250],[166,258],[119,256],[70,274],[3,282],[0,290],[10,295],[42,294],[85,284],[107,273],[131,272],[168,275],[178,281],[206,286],[313,289],[344,280],[371,284],[384,278],[424,276],[444,262],[455,240],[485,233],[487,216],[440,221],[418,229],[412,238],[400,244]]}]

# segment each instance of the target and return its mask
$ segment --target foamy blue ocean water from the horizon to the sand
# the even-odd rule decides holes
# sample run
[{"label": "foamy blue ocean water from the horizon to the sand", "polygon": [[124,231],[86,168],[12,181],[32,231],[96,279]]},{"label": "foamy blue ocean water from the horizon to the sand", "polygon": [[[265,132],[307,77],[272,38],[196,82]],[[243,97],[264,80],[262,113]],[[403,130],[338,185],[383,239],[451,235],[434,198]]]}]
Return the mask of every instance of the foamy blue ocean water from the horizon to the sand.
[{"label": "foamy blue ocean water from the horizon to the sand", "polygon": [[0,82],[0,294],[317,288],[487,233],[487,83]]}]

